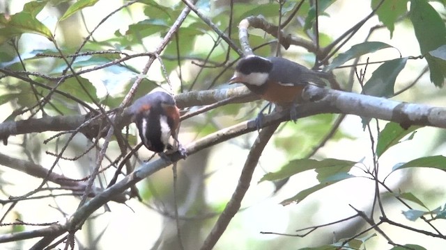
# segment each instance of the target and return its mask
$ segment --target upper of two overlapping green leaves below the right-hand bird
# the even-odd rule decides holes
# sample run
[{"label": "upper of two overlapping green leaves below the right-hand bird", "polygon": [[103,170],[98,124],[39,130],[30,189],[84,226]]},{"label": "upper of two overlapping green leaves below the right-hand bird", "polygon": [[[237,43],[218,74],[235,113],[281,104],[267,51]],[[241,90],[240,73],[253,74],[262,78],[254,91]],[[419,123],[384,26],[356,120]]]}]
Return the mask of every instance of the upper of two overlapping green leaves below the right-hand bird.
[{"label": "upper of two overlapping green leaves below the right-hand bird", "polygon": [[[265,174],[259,182],[262,181],[277,181],[283,178],[288,178],[295,174],[307,171],[309,169],[318,169],[318,181],[323,181],[332,174],[339,173],[339,169],[343,169],[342,172],[348,172],[348,170],[355,165],[355,162],[349,160],[337,160],[337,159],[325,159],[325,160],[312,160],[312,159],[298,159],[291,160],[287,165],[284,165],[282,169],[275,173]],[[345,171],[348,169],[347,171]]]}]

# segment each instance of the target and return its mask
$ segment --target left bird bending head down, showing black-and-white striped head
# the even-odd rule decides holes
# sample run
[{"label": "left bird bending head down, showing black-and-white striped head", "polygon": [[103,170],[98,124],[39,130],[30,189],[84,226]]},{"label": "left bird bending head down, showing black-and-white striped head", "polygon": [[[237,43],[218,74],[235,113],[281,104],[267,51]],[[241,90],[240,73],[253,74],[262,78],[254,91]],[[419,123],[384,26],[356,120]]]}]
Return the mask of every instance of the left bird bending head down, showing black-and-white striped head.
[{"label": "left bird bending head down, showing black-and-white striped head", "polygon": [[163,153],[165,149],[174,149],[169,144],[172,137],[181,156],[186,156],[176,134],[180,124],[180,111],[171,94],[162,91],[148,93],[134,101],[130,106],[130,113],[132,121],[137,125],[139,137],[148,150]]}]

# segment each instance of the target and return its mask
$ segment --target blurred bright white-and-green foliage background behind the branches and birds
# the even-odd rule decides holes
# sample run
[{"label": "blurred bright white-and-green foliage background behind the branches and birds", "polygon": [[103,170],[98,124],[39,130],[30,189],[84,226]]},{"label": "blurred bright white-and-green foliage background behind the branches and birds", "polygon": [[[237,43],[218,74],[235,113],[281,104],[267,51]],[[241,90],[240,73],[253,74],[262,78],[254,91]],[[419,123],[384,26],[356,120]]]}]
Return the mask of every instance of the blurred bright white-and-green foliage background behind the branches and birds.
[{"label": "blurred bright white-and-green foliage background behind the branches and birds", "polygon": [[[378,84],[390,88],[368,94],[432,106],[446,104],[441,88],[446,76],[446,49],[442,46],[446,44],[445,1],[217,0],[197,1],[195,6],[237,45],[238,23],[252,15],[261,15],[275,25],[289,19],[282,31],[318,44],[317,48],[335,44],[331,56],[321,57],[295,44],[277,48],[277,38],[261,29],[249,30],[249,43],[256,55],[271,56],[279,51],[280,56],[307,67],[332,67],[343,90],[361,92],[363,83],[371,80],[370,88]],[[183,8],[182,1],[155,0],[0,2],[1,121],[88,113],[82,102],[112,110],[138,77],[144,80],[134,99],[155,88],[174,94],[230,88],[227,80],[240,55],[192,12],[159,55],[160,60],[155,60],[148,74],[140,74],[148,53],[159,46]],[[363,19],[364,24],[358,25]],[[346,35],[352,27],[356,28]],[[337,41],[341,37],[344,42]],[[358,44],[361,47],[355,49]],[[125,60],[117,61],[120,58]],[[318,65],[322,59],[325,62]],[[386,65],[390,60],[397,60],[400,68]],[[79,75],[66,77],[71,72]],[[392,74],[397,80],[383,83]],[[358,75],[364,76],[363,82]],[[59,84],[62,78],[63,84]],[[50,94],[55,86],[70,97]],[[49,101],[40,107],[38,101],[45,97]],[[230,103],[186,119],[181,124],[180,141],[188,144],[252,119],[265,104],[260,100]],[[130,145],[137,144],[134,124],[128,128],[129,134],[125,129],[122,132]],[[68,144],[63,154],[66,158],[57,160],[54,172],[73,179],[89,176],[99,148],[84,153],[92,142],[80,134],[73,140],[61,135],[43,143],[54,135],[56,132],[45,131],[13,136],[0,152],[49,168],[56,158],[47,152],[57,153]],[[256,135],[241,135],[178,163],[176,197],[184,249],[199,249],[203,244],[236,188]],[[285,122],[263,151],[241,209],[215,249],[336,249],[346,239],[351,249],[404,249],[398,247],[405,244],[413,244],[411,249],[443,249],[444,237],[433,238],[388,223],[379,226],[383,236],[380,231],[368,231],[371,222],[360,216],[345,218],[358,215],[355,208],[374,216],[376,223],[383,216],[381,207],[392,222],[438,233],[433,228],[445,226],[446,161],[440,157],[445,139],[438,128],[404,131],[374,119],[365,129],[360,117],[348,115],[323,114]],[[151,156],[145,148],[138,153],[141,160]],[[116,140],[112,141],[107,156],[114,160],[120,154]],[[416,164],[401,164],[415,159],[419,159]],[[133,158],[131,162],[134,167],[140,164]],[[41,179],[16,171],[13,165],[2,165],[1,223],[5,225],[0,227],[1,234],[43,227],[32,224],[63,222],[77,209],[79,197],[56,189],[52,183],[29,199],[10,201],[10,196],[37,188]],[[103,163],[107,165],[109,162]],[[333,166],[339,168],[332,170]],[[378,174],[374,167],[379,167]],[[114,168],[101,173],[96,185],[107,186],[113,174]],[[75,249],[180,249],[173,179],[171,167],[167,167],[138,183],[141,201],[111,201],[109,212],[96,211],[75,234]],[[376,180],[389,189],[381,185],[376,192]],[[378,196],[380,206],[376,204]],[[429,217],[429,223],[434,219],[434,226],[423,220],[423,215]],[[29,224],[6,225],[16,219]],[[321,226],[325,224],[330,225]],[[318,229],[305,237],[289,236],[308,233],[296,232],[308,227]],[[1,248],[29,249],[35,242],[17,240]]]}]

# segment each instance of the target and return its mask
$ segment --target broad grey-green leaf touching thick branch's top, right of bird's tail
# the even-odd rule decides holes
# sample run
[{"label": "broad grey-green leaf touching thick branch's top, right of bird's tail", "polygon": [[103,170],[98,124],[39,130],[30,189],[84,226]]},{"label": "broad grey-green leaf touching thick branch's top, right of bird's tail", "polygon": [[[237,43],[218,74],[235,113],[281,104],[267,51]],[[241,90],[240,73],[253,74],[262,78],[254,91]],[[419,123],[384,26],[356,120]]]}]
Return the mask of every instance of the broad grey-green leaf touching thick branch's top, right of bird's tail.
[{"label": "broad grey-green leaf touching thick branch's top, right of bird's tail", "polygon": [[362,92],[374,97],[392,97],[395,81],[397,81],[399,72],[406,66],[407,59],[397,58],[380,65],[371,74],[369,81],[364,84]]}]

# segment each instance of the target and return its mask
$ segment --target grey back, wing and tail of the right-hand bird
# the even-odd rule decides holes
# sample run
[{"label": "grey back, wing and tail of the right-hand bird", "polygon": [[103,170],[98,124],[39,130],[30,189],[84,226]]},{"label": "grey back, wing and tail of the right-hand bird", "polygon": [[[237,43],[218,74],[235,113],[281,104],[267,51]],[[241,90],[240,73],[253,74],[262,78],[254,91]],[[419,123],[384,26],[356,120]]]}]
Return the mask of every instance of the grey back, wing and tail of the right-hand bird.
[{"label": "grey back, wing and tail of the right-hand bird", "polygon": [[[326,84],[319,78],[324,72],[315,72],[307,67],[291,60],[282,60],[277,57],[268,58],[272,61],[272,70],[270,72],[270,79],[278,81],[282,85],[302,85],[314,84],[325,86]],[[279,61],[279,62],[278,62]],[[279,69],[275,68],[279,65]]]}]

